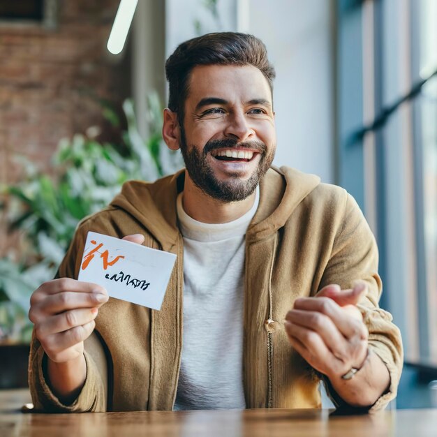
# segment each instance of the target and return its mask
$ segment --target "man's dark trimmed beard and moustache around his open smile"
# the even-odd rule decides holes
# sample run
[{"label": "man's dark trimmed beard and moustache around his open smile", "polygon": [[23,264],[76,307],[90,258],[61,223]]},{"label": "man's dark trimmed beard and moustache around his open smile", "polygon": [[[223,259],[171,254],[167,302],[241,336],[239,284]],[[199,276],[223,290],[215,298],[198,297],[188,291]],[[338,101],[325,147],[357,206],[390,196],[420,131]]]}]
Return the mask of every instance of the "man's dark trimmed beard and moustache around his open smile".
[{"label": "man's dark trimmed beard and moustache around his open smile", "polygon": [[[208,141],[202,150],[202,154],[195,147],[188,150],[185,132],[181,129],[181,151],[188,175],[198,188],[210,197],[223,202],[238,202],[249,197],[260,183],[260,179],[272,165],[274,151],[267,154],[267,147],[260,141],[238,142],[236,139],[225,138],[223,140]],[[216,149],[232,149],[232,147],[246,147],[247,149],[259,151],[261,154],[258,168],[248,180],[239,179],[239,173],[230,174],[230,179],[220,181],[214,175],[212,168],[207,162],[207,155]]]}]

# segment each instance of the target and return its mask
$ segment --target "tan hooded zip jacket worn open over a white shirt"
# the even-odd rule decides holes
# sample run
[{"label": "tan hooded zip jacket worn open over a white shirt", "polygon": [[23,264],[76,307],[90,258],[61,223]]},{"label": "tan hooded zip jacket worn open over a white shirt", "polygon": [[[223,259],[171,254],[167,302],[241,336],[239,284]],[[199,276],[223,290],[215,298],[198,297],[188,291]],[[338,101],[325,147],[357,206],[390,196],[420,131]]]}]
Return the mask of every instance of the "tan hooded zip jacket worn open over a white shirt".
[{"label": "tan hooded zip jacket worn open over a white shirt", "polygon": [[[183,186],[183,171],[153,184],[128,182],[108,208],[80,223],[59,277],[77,278],[90,230],[114,237],[140,233],[146,246],[177,254],[177,262],[161,311],[112,298],[102,306],[94,334],[85,342],[87,379],[72,405],[52,394],[44,378],[43,348],[32,341],[29,384],[36,408],[172,409],[182,352],[183,242],[176,198]],[[357,279],[369,286],[358,305],[369,328],[369,346],[391,378],[389,392],[373,409],[396,395],[401,336],[390,314],[378,308],[377,271],[375,239],[345,190],[290,168],[267,172],[260,182],[258,211],[246,232],[242,353],[247,408],[320,407],[318,373],[290,346],[283,320],[297,297],[315,295],[330,283],[351,288]]]}]

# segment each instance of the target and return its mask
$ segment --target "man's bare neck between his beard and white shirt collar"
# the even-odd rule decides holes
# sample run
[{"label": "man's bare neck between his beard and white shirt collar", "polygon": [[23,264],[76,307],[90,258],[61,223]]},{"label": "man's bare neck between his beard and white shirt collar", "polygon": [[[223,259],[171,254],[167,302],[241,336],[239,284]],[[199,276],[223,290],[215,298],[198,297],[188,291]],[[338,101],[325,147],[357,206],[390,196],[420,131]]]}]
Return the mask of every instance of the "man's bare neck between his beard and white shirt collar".
[{"label": "man's bare neck between his beard and white shirt collar", "polygon": [[223,202],[204,193],[185,175],[182,205],[188,216],[202,223],[228,223],[244,216],[255,201],[255,193],[239,202]]}]

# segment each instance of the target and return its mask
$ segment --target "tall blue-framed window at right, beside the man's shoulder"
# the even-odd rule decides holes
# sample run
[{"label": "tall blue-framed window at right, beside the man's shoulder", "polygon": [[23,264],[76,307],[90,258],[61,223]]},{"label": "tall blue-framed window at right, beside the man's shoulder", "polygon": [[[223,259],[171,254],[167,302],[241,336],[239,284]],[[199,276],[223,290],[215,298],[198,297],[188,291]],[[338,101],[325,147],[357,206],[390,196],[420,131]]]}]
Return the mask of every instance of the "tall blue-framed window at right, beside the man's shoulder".
[{"label": "tall blue-framed window at right, beside the man's shoulder", "polygon": [[437,1],[339,0],[339,26],[339,182],[378,240],[406,362],[437,369]]}]

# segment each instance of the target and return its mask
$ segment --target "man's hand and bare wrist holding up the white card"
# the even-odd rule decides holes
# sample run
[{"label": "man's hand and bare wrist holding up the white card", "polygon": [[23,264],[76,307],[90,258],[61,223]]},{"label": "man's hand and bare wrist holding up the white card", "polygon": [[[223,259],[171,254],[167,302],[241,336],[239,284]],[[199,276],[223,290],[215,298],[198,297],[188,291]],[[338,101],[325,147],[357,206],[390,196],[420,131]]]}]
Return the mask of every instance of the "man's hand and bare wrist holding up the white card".
[{"label": "man's hand and bare wrist holding up the white card", "polygon": [[[123,239],[142,244],[145,237]],[[47,360],[47,383],[61,402],[73,402],[87,377],[84,340],[94,330],[98,309],[108,292],[97,284],[61,278],[43,283],[31,296],[29,319],[34,323]]]}]

